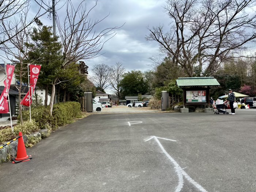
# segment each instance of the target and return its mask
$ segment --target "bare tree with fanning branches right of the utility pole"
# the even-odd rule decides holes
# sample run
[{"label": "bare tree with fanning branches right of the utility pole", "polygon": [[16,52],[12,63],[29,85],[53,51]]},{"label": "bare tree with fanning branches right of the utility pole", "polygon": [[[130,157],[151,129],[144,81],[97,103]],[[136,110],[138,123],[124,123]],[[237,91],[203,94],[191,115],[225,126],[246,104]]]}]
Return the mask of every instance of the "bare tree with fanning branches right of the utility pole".
[{"label": "bare tree with fanning branches right of the utility pole", "polygon": [[[70,65],[79,60],[92,59],[98,56],[106,41],[112,38],[116,33],[114,29],[119,27],[110,27],[99,31],[95,31],[95,27],[102,22],[103,19],[92,20],[89,18],[90,12],[97,5],[87,11],[85,0],[83,0],[77,8],[73,6],[71,0],[67,1],[66,16],[64,22],[61,23],[57,18],[57,26],[61,39],[63,63],[61,69],[66,69]],[[56,77],[52,82],[52,93],[50,98],[50,113],[52,114],[55,85],[61,83]]]}]

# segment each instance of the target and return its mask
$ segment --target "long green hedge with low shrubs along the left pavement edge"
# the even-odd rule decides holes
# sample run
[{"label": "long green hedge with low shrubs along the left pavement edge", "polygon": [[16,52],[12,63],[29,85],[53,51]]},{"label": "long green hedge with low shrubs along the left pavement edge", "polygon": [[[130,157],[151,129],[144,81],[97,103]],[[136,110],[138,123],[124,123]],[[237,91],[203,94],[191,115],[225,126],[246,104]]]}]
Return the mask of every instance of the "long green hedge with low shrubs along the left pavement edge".
[{"label": "long green hedge with low shrubs along the left pavement edge", "polygon": [[[23,125],[16,125],[14,133],[11,128],[0,130],[0,144],[8,140],[14,139],[19,135],[19,131],[23,135],[29,135],[39,129],[54,130],[60,126],[72,123],[75,118],[81,117],[80,103],[78,102],[65,102],[53,105],[52,116],[50,115],[49,107],[45,108],[40,106],[31,109],[31,119],[29,117],[29,110],[22,112]],[[18,123],[20,116],[18,116]]]}]

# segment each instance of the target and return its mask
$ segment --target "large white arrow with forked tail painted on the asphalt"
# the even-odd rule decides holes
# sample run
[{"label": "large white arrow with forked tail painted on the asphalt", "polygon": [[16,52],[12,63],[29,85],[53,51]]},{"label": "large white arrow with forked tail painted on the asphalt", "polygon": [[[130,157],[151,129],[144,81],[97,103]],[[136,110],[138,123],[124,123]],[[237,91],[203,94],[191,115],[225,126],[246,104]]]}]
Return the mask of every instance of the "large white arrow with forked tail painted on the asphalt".
[{"label": "large white arrow with forked tail painted on the asphalt", "polygon": [[[155,139],[156,142],[158,143],[159,147],[162,149],[163,153],[168,157],[168,159],[170,159],[170,161],[174,164],[174,169],[175,172],[178,175],[178,186],[176,187],[175,192],[180,192],[183,184],[184,184],[184,180],[183,180],[183,176],[192,184],[194,185],[199,191],[201,192],[207,192],[201,185],[199,185],[196,181],[194,181],[191,177],[189,177],[189,175],[178,165],[178,163],[166,152],[166,150],[163,148],[162,144],[159,142],[158,137],[153,136],[150,139]],[[148,140],[150,140],[148,139]],[[164,139],[164,138],[161,138]],[[146,140],[146,141],[148,141]],[[170,140],[170,139],[167,139]],[[145,141],[145,142],[146,142]]]}]

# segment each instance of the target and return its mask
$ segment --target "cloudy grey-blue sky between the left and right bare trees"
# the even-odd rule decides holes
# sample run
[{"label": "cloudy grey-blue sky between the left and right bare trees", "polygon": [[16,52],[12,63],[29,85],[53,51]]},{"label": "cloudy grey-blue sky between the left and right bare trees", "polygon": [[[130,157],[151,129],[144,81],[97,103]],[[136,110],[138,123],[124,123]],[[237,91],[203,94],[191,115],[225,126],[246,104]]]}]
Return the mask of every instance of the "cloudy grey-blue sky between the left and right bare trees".
[{"label": "cloudy grey-blue sky between the left and right bare trees", "polygon": [[[63,1],[64,3],[65,1]],[[95,0],[86,0],[87,9],[93,7]],[[59,9],[63,3],[57,5]],[[80,1],[72,1],[76,6]],[[100,54],[103,55],[87,60],[89,75],[95,64],[107,64],[109,66],[121,62],[127,71],[133,69],[145,71],[151,69],[152,61],[148,59],[158,54],[157,42],[145,40],[149,33],[147,26],[153,27],[164,24],[168,27],[170,19],[163,12],[165,0],[98,0],[97,6],[90,13],[91,19],[102,19],[110,14],[95,28],[105,29],[108,27],[122,26],[115,30],[116,35],[104,45]],[[65,8],[65,7],[64,7]],[[60,20],[64,17],[63,9],[57,10]],[[52,20],[47,16],[41,18],[45,25],[52,25]],[[96,31],[97,32],[97,31]]]}]

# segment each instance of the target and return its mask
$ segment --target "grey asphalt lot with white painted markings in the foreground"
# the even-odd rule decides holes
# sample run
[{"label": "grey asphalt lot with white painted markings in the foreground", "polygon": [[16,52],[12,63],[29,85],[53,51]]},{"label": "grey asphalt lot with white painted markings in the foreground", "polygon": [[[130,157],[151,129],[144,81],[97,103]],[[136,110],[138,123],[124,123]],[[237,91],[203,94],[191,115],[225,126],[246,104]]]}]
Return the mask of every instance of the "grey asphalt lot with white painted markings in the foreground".
[{"label": "grey asphalt lot with white painted markings in the foreground", "polygon": [[1,192],[256,191],[256,109],[93,114],[0,165]]}]

